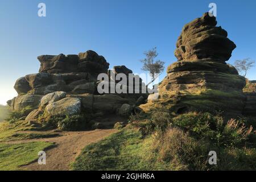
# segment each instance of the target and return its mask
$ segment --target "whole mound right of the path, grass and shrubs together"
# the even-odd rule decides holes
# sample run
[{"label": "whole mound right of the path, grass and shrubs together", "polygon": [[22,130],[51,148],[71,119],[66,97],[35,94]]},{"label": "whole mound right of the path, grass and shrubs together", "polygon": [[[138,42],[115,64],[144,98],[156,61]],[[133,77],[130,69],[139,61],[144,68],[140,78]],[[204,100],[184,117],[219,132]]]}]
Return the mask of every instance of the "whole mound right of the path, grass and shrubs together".
[{"label": "whole mound right of the path, grass and shrubs together", "polygon": [[[255,134],[245,119],[224,122],[209,113],[170,117],[156,112],[84,148],[75,170],[256,169]],[[210,165],[209,152],[217,152]]]}]

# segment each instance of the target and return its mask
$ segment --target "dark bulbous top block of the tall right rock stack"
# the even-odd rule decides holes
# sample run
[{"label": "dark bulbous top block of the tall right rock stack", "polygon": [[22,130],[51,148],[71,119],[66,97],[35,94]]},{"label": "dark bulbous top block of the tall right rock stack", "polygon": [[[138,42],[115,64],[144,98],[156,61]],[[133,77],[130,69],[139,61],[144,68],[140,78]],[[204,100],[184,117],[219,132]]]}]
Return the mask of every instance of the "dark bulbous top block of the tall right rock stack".
[{"label": "dark bulbous top block of the tall right rock stack", "polygon": [[212,59],[227,61],[236,45],[226,38],[228,33],[217,24],[214,16],[205,13],[183,27],[177,40],[175,56],[180,60]]}]

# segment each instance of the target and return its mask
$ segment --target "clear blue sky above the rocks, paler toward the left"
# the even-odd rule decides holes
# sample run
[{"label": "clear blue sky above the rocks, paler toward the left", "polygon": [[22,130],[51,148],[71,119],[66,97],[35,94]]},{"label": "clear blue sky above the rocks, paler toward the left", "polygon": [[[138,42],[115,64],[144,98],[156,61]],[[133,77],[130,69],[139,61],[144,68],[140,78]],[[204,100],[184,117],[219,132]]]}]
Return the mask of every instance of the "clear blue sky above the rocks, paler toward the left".
[{"label": "clear blue sky above the rocks, paler toward the left", "polygon": [[[46,3],[46,17],[38,16],[40,2]],[[0,104],[16,95],[17,78],[38,72],[38,55],[92,49],[106,58],[110,68],[126,65],[141,73],[138,60],[156,46],[167,67],[176,61],[175,44],[182,27],[209,11],[210,2],[217,4],[218,25],[237,45],[229,62],[255,60],[254,0],[0,0]],[[256,80],[256,68],[248,77]]]}]

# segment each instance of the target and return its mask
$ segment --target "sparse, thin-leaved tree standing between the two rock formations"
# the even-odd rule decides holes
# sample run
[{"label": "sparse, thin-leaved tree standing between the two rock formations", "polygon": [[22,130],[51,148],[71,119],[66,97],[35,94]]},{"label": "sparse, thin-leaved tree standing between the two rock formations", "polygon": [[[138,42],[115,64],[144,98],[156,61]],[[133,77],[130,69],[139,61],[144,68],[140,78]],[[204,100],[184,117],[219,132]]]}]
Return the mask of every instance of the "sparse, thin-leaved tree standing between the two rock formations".
[{"label": "sparse, thin-leaved tree standing between the two rock formations", "polygon": [[155,58],[158,56],[158,53],[156,52],[156,47],[144,52],[144,55],[146,56],[146,58],[141,60],[141,62],[143,63],[142,70],[150,73],[151,82],[147,84],[149,85],[154,82],[155,79],[159,77],[159,75],[161,75],[161,73],[163,73],[164,61],[155,60]]}]

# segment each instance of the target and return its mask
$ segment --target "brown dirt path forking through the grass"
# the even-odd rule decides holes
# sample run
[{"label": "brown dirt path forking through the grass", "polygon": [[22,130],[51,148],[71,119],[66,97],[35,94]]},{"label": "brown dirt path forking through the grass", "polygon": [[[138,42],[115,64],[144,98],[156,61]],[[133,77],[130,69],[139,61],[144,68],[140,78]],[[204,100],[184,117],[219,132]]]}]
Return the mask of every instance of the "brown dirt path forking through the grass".
[{"label": "brown dirt path forking through the grass", "polygon": [[46,151],[46,165],[39,165],[38,162],[23,166],[23,169],[32,171],[49,171],[49,170],[69,170],[69,164],[74,162],[80,154],[82,148],[86,145],[97,142],[108,135],[115,133],[117,130],[93,130],[93,131],[78,131],[65,132],[63,136],[44,139],[30,139],[9,143],[22,143],[33,141],[54,142],[56,147]]}]

